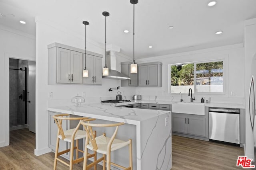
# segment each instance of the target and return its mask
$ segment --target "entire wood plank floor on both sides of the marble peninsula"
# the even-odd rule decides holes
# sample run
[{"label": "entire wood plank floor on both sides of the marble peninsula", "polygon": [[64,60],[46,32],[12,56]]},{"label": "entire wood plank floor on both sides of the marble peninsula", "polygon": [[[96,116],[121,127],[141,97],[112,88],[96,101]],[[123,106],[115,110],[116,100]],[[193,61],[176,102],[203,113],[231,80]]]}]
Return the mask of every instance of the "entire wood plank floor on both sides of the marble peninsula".
[{"label": "entire wood plank floor on both sides of the marble peninsula", "polygon": [[[34,155],[35,134],[28,129],[10,131],[10,145],[0,148],[0,170],[52,170],[54,153]],[[244,155],[240,147],[172,136],[172,170],[234,170],[238,156]],[[58,163],[58,170],[68,167]],[[81,170],[82,163],[74,170]],[[102,170],[98,166],[97,170]]]}]

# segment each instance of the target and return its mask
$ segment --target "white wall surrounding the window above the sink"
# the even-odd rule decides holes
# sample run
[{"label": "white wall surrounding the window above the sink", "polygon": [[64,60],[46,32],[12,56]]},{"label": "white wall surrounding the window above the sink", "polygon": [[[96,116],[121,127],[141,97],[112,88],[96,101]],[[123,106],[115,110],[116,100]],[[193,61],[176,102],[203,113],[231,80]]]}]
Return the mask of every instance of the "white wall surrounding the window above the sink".
[{"label": "white wall surrounding the window above the sink", "polygon": [[[224,60],[224,94],[193,94],[196,102],[200,102],[202,97],[208,99],[211,97],[212,102],[240,103],[244,101],[244,47],[243,44],[190,51],[172,55],[151,57],[147,59],[137,59],[136,63],[148,63],[159,61],[162,62],[162,87],[138,87],[136,94],[152,96],[173,96],[174,101],[180,100],[179,94],[169,94],[169,67],[168,64],[187,63],[197,61]],[[234,92],[234,96],[230,93]],[[193,90],[194,93],[194,90]],[[188,92],[182,95],[184,101],[190,101]]]}]

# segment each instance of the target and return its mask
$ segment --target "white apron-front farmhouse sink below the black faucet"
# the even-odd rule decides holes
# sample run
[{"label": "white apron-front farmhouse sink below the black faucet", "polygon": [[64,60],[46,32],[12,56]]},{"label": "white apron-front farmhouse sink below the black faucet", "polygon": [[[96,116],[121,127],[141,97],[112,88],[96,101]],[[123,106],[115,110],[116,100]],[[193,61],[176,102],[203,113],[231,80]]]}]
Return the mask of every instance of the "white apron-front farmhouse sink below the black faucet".
[{"label": "white apron-front farmhouse sink below the black faucet", "polygon": [[198,103],[198,102],[173,103],[172,112],[192,114],[192,115],[205,115],[204,103]]}]

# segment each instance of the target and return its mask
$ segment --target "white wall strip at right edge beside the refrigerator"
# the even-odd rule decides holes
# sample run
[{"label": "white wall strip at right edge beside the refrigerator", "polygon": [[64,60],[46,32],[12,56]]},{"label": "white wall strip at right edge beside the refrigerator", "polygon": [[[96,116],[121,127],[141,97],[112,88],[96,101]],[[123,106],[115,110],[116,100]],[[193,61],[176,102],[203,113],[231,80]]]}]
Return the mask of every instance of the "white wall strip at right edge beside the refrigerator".
[{"label": "white wall strip at right edge beside the refrigerator", "polygon": [[[248,107],[248,92],[250,88],[250,80],[252,75],[254,75],[254,81],[256,78],[256,18],[252,20],[247,20],[244,23],[244,82],[245,82],[245,100],[246,100],[246,117],[245,117],[245,131],[246,131],[246,147],[245,156],[250,159],[254,159],[254,137],[253,131],[250,123],[250,115],[247,109]],[[255,127],[254,127],[255,131]]]}]

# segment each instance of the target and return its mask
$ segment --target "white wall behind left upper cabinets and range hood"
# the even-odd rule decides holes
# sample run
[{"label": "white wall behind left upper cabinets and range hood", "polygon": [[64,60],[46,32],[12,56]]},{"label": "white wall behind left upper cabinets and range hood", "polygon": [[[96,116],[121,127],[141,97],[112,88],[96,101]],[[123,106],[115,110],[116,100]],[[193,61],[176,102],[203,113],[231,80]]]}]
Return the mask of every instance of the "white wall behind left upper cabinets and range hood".
[{"label": "white wall behind left upper cabinets and range hood", "polygon": [[[82,22],[81,22],[82,25]],[[81,26],[84,29],[84,26]],[[89,34],[89,32],[87,32]],[[36,18],[36,149],[35,154],[40,155],[49,152],[48,149],[48,94],[53,92],[54,99],[70,99],[78,93],[82,96],[86,92],[86,98],[110,96],[115,99],[116,92],[108,92],[109,88],[120,86],[120,80],[102,79],[102,85],[48,85],[47,70],[48,70],[48,49],[47,45],[51,43],[62,43],[84,49],[84,36],[75,35],[72,31],[67,31],[48,23],[44,18]],[[104,43],[104,42],[103,42]],[[87,50],[95,53],[104,54],[105,49],[101,44],[91,40],[87,42]],[[118,55],[119,56],[119,55]],[[117,56],[117,58],[118,58]],[[120,57],[120,56],[119,56]],[[118,58],[117,64],[121,61],[127,61]],[[104,66],[105,58],[102,60]],[[120,69],[120,67],[119,67]],[[120,70],[119,70],[120,71]],[[129,87],[120,87],[120,91],[125,94],[134,94],[135,89]]]}]

